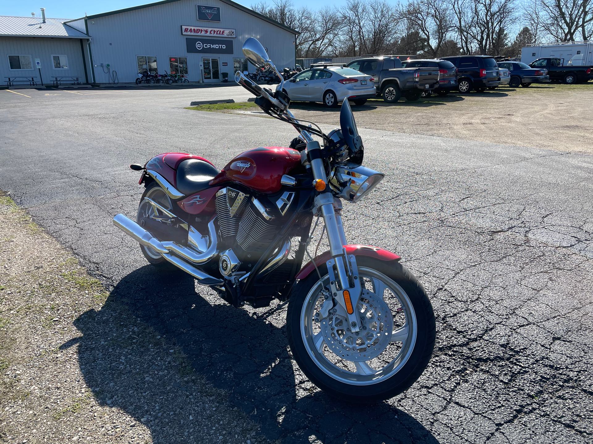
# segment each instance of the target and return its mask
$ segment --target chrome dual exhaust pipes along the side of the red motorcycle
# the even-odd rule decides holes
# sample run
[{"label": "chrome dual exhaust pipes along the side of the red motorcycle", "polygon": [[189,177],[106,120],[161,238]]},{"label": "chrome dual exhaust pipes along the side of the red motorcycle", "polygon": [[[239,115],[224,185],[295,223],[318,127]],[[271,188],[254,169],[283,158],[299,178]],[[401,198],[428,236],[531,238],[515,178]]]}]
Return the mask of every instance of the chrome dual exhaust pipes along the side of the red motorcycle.
[{"label": "chrome dual exhaust pipes along the side of the red motorcycle", "polygon": [[[203,254],[197,254],[175,242],[161,242],[126,215],[117,214],[113,218],[113,224],[128,236],[132,237],[132,239],[136,240],[136,242],[155,250],[155,252],[160,253],[165,260],[171,262],[173,265],[182,269],[187,274],[192,275],[197,279],[198,284],[222,285],[222,279],[208,275],[190,263],[187,263],[185,260],[171,254],[171,252],[178,253],[179,255],[183,255],[185,258],[202,260],[200,263],[206,262],[206,256],[209,256],[208,259],[212,259],[218,253],[218,251],[216,251],[216,234],[214,234],[214,237],[211,237],[213,242],[211,242],[210,248]],[[216,233],[213,221],[208,224],[208,228],[211,229],[211,224],[211,231]],[[213,250],[215,250],[214,253]]]}]

